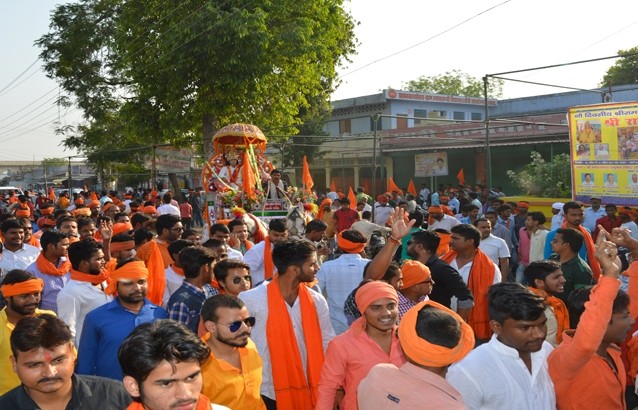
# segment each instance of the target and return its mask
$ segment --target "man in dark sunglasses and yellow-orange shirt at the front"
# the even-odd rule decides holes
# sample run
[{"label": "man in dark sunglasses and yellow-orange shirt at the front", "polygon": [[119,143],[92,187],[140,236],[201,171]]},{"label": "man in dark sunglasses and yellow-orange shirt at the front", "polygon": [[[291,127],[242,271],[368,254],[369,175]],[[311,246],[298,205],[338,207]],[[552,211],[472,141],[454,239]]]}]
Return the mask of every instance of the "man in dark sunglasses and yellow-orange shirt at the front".
[{"label": "man in dark sunglasses and yellow-orange shirt at the front", "polygon": [[202,394],[231,409],[265,409],[259,393],[262,361],[250,340],[255,318],[241,300],[215,295],[204,302],[202,320],[207,331],[202,339],[210,348],[202,364]]}]

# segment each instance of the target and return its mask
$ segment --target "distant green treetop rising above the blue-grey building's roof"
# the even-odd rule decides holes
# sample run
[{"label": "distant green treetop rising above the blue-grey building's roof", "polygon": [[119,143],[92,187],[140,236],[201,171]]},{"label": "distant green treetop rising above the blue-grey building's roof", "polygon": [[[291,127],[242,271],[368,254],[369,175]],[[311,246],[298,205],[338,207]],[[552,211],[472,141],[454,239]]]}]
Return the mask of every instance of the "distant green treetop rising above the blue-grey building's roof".
[{"label": "distant green treetop rising above the blue-grey building's roof", "polygon": [[[503,95],[501,79],[490,79],[487,94],[490,98]],[[420,91],[430,94],[462,95],[465,97],[483,97],[483,80],[474,78],[461,70],[447,71],[435,76],[421,76],[403,84],[407,91]]]}]

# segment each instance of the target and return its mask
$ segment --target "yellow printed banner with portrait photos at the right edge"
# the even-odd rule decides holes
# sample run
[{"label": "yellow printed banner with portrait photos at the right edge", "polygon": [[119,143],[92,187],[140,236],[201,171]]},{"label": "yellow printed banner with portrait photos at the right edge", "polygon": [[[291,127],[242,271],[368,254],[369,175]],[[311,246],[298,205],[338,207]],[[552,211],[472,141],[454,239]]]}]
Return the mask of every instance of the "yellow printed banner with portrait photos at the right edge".
[{"label": "yellow printed banner with portrait photos at the right edge", "polygon": [[638,205],[638,102],[568,110],[576,201]]}]

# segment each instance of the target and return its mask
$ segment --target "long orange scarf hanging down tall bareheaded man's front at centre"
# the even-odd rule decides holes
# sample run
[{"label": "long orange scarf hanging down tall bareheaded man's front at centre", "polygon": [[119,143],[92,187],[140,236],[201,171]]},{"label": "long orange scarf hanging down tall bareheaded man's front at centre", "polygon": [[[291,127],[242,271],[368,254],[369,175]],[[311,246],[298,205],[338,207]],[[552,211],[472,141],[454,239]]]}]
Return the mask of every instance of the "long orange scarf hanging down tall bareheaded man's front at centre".
[{"label": "long orange scarf hanging down tall bareheaded man's front at centre", "polygon": [[319,317],[310,290],[299,285],[301,323],[306,343],[306,375],[301,365],[301,354],[295,342],[295,332],[281,294],[279,281],[268,284],[268,319],[266,340],[270,350],[273,385],[277,407],[280,409],[312,409],[317,402],[317,387],[323,366],[323,342]]}]

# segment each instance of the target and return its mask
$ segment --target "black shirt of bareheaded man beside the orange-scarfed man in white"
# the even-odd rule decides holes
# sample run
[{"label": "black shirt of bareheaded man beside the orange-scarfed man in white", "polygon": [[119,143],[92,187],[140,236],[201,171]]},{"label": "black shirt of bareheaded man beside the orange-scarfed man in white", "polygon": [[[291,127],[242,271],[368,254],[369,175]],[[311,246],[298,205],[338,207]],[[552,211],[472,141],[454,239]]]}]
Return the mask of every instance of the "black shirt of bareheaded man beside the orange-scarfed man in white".
[{"label": "black shirt of bareheaded man beside the orange-scarfed man in white", "polygon": [[433,255],[425,263],[425,266],[430,268],[430,273],[434,280],[430,300],[448,308],[450,307],[452,296],[456,296],[459,301],[474,301],[472,292],[463,282],[461,275],[445,261]]}]

